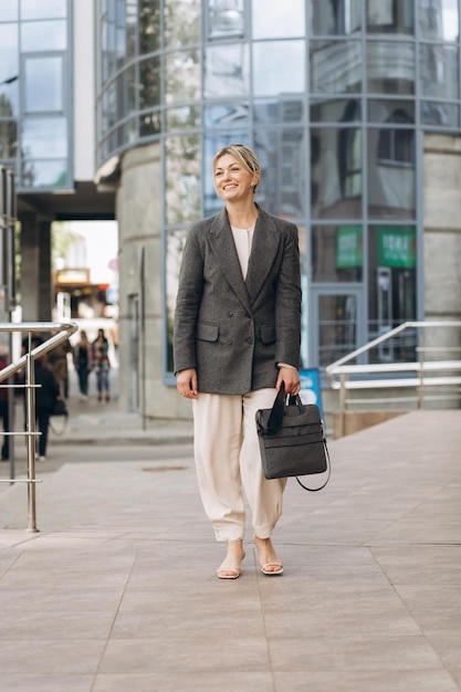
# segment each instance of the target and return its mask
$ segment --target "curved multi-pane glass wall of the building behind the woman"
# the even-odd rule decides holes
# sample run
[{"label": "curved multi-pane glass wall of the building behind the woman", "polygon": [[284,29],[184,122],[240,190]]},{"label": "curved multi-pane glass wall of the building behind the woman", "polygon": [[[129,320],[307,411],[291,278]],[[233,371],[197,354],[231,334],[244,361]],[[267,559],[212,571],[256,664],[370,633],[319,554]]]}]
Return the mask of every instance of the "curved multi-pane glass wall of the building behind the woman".
[{"label": "curved multi-pane glass wall of the building behind the woman", "polygon": [[168,323],[229,141],[255,149],[260,203],[300,228],[305,367],[420,316],[420,134],[460,133],[459,4],[97,0],[97,161],[161,147]]}]

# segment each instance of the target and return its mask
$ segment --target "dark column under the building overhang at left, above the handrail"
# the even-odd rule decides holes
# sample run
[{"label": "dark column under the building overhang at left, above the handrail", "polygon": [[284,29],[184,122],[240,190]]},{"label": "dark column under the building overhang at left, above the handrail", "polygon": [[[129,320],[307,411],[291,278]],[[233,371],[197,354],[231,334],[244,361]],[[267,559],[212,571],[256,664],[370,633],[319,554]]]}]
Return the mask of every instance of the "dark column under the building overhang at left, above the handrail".
[{"label": "dark column under the building overhang at left, above the handrail", "polygon": [[21,307],[23,322],[50,322],[52,314],[51,222],[21,214]]}]

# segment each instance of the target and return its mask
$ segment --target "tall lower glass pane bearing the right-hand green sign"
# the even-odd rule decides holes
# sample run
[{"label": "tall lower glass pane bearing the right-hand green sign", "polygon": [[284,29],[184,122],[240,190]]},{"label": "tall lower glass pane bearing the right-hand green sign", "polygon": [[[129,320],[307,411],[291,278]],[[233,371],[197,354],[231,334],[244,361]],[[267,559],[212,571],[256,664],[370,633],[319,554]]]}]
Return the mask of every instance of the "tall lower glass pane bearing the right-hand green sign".
[{"label": "tall lower glass pane bearing the right-hand green sign", "polygon": [[[375,226],[369,230],[368,317],[369,339],[399,324],[416,319],[416,228]],[[415,359],[413,335],[386,342],[373,352],[371,361]]]}]

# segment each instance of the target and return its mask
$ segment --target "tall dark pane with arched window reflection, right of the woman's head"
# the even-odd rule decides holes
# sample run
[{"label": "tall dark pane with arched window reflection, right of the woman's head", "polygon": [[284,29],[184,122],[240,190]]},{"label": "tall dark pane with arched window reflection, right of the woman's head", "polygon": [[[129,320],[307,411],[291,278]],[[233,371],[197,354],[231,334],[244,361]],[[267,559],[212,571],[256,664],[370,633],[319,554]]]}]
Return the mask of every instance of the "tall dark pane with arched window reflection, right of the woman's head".
[{"label": "tall dark pane with arched window reflection, right of the woman's head", "polygon": [[362,217],[362,129],[313,128],[311,209],[319,219]]}]

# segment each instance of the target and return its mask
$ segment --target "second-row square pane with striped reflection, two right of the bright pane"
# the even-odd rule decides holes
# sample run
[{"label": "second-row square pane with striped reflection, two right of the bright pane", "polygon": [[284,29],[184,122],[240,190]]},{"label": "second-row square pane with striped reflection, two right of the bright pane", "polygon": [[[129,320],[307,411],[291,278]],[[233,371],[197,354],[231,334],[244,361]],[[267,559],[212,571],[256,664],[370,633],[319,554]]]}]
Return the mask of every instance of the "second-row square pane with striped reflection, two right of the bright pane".
[{"label": "second-row square pane with striped reflection, two right of the bright pane", "polygon": [[368,92],[377,94],[415,93],[415,46],[412,43],[368,41]]}]

